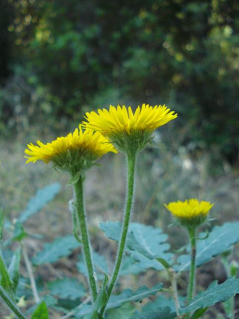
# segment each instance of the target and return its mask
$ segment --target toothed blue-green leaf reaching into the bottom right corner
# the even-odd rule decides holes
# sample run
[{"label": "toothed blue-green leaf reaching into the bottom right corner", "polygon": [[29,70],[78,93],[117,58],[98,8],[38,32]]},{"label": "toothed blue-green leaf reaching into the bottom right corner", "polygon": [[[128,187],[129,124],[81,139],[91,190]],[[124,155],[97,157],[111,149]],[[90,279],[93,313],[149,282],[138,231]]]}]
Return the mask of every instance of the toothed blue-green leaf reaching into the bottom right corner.
[{"label": "toothed blue-green leaf reaching into the bottom right corner", "polygon": [[193,298],[187,307],[181,308],[179,313],[186,314],[190,311],[207,308],[214,305],[216,302],[224,302],[228,300],[236,293],[239,293],[239,279],[231,277],[221,285],[217,285],[215,281],[207,290],[202,291],[195,298]]}]

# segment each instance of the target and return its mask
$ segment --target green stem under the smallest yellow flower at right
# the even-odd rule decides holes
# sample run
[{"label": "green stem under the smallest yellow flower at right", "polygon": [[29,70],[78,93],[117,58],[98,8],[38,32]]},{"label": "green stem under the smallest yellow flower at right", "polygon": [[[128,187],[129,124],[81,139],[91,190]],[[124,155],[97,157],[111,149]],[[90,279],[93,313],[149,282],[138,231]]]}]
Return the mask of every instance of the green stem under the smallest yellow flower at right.
[{"label": "green stem under the smallest yellow flower at right", "polygon": [[191,245],[191,267],[187,292],[187,303],[189,304],[194,296],[195,270],[196,270],[196,237],[195,227],[188,228],[188,235]]}]

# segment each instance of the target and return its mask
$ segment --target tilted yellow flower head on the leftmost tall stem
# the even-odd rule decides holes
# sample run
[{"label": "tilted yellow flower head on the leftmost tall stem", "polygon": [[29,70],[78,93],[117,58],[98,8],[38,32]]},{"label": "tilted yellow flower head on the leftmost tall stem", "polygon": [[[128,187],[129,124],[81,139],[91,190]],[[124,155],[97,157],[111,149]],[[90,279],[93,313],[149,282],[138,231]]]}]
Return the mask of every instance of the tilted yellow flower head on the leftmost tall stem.
[{"label": "tilted yellow flower head on the leftmost tall stem", "polygon": [[43,160],[44,163],[53,162],[56,166],[78,172],[89,168],[93,162],[108,152],[117,153],[112,144],[100,133],[91,129],[82,130],[81,126],[74,133],[58,137],[51,143],[38,145],[28,144],[25,156],[29,162]]}]

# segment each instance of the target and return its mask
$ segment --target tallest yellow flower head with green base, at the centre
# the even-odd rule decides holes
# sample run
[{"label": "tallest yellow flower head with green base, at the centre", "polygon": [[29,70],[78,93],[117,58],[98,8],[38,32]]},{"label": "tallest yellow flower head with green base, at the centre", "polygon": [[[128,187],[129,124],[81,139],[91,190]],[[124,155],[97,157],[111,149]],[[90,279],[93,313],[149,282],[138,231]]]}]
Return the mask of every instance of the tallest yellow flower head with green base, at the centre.
[{"label": "tallest yellow flower head with green base, at the centre", "polygon": [[88,122],[84,121],[83,127],[101,132],[121,151],[140,151],[156,128],[177,117],[174,113],[165,105],[152,107],[143,104],[134,113],[130,106],[126,109],[124,105],[117,108],[111,105],[109,111],[87,112],[85,118]]}]

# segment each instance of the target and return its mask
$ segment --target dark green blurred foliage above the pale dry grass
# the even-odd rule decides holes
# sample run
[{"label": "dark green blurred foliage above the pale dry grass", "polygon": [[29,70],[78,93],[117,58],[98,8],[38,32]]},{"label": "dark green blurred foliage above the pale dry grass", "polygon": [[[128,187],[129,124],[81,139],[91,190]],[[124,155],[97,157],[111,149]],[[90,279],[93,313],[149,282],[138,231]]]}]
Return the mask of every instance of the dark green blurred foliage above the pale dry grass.
[{"label": "dark green blurred foliage above the pale dry grass", "polygon": [[[184,142],[239,144],[237,0],[2,0],[0,122],[167,103]],[[1,124],[1,128],[4,126]]]}]

